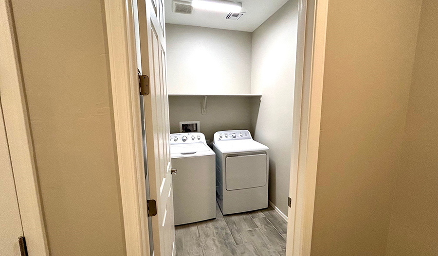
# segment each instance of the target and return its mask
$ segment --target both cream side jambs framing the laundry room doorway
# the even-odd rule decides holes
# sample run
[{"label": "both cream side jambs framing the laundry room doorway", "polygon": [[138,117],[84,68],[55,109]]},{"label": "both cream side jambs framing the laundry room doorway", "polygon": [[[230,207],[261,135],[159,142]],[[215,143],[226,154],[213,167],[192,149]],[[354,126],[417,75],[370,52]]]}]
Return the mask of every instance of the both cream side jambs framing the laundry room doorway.
[{"label": "both cream side jambs framing the laundry room doorway", "polygon": [[[134,0],[104,0],[127,256],[150,256]],[[288,256],[310,256],[329,0],[298,0]]]}]

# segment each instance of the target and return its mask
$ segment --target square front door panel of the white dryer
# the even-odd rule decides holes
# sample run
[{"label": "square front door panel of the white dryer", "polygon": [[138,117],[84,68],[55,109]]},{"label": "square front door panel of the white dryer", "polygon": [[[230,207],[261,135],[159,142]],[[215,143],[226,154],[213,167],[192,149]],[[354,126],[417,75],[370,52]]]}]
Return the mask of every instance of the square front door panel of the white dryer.
[{"label": "square front door panel of the white dryer", "polygon": [[228,156],[225,169],[227,190],[265,186],[266,163],[266,154]]}]

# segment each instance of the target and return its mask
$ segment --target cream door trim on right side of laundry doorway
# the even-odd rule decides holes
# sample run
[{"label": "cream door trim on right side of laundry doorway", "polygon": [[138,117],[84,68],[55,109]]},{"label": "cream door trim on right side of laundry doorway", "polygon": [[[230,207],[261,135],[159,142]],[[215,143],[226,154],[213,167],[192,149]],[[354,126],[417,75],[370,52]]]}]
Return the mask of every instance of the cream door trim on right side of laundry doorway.
[{"label": "cream door trim on right side of laundry doorway", "polygon": [[299,0],[286,255],[310,256],[329,0]]}]

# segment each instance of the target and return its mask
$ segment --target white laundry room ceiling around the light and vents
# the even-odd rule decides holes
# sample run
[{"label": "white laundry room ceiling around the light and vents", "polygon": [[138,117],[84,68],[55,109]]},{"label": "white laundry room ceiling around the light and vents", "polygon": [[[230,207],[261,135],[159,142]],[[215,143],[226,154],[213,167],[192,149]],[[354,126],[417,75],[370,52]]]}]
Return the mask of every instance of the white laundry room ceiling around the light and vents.
[{"label": "white laundry room ceiling around the light and vents", "polygon": [[172,12],[172,0],[164,0],[166,23],[253,32],[288,0],[236,0],[242,2],[239,20],[225,19],[226,13],[193,9],[192,14]]}]

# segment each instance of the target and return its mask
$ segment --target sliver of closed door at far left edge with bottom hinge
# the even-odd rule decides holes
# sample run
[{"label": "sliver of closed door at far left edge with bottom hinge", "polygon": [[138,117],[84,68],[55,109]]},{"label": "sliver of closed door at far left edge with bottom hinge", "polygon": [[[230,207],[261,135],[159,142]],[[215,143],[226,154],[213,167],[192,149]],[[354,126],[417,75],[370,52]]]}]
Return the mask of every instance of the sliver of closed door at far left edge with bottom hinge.
[{"label": "sliver of closed door at far left edge with bottom hinge", "polygon": [[[1,99],[0,99],[1,100]],[[23,236],[14,175],[12,173],[3,111],[0,104],[0,256],[20,256],[18,238]]]}]

